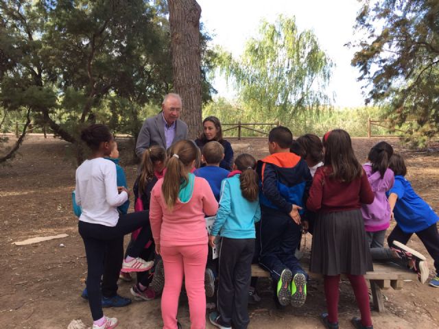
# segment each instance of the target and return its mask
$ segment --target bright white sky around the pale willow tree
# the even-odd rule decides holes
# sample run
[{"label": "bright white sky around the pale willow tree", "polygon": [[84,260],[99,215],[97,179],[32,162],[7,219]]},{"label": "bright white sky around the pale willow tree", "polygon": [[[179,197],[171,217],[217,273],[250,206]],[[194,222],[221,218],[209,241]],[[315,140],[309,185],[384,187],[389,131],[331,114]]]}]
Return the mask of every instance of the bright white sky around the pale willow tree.
[{"label": "bright white sky around the pale willow tree", "polygon": [[[351,66],[353,49],[344,47],[355,40],[353,25],[361,4],[357,0],[197,0],[201,21],[213,34],[213,45],[220,45],[238,58],[250,36],[257,36],[259,22],[276,21],[279,14],[295,16],[298,29],[312,29],[320,47],[335,63],[329,92],[335,93],[337,107],[364,106],[359,71]],[[215,77],[217,96],[230,101],[236,97],[224,77]]]}]

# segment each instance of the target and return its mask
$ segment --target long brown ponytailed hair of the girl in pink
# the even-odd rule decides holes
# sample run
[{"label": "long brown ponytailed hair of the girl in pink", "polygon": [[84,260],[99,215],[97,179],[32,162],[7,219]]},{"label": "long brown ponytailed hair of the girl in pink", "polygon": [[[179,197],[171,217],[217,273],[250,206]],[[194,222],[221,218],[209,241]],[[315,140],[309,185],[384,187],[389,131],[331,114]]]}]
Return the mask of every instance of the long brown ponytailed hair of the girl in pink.
[{"label": "long brown ponytailed hair of the girl in pink", "polygon": [[192,141],[179,141],[171,147],[167,169],[163,178],[162,193],[169,210],[176,205],[180,184],[188,184],[188,166],[197,159],[198,147]]}]

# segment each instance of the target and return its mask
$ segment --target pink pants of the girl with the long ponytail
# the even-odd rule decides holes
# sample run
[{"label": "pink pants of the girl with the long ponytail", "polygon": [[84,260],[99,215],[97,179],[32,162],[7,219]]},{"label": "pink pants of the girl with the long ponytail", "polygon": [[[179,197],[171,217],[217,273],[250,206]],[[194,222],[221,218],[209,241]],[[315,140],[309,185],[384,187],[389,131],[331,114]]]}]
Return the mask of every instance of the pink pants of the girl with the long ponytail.
[{"label": "pink pants of the girl with the long ponytail", "polygon": [[165,267],[165,288],[162,293],[163,329],[177,328],[178,297],[183,275],[189,299],[191,329],[206,328],[206,294],[204,269],[207,261],[207,245],[180,245],[161,247]]}]

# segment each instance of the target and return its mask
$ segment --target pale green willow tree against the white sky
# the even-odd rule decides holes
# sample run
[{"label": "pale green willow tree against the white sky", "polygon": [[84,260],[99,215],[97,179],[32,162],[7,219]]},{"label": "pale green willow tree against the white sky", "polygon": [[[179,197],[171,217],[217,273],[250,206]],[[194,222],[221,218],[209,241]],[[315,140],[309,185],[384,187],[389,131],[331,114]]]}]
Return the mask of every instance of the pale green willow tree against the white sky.
[{"label": "pale green willow tree against the white sky", "polygon": [[294,19],[262,21],[259,35],[246,42],[238,59],[224,50],[219,53],[220,70],[241,103],[252,109],[249,119],[290,125],[298,115],[316,113],[331,103],[326,88],[333,63],[316,35],[299,31]]}]

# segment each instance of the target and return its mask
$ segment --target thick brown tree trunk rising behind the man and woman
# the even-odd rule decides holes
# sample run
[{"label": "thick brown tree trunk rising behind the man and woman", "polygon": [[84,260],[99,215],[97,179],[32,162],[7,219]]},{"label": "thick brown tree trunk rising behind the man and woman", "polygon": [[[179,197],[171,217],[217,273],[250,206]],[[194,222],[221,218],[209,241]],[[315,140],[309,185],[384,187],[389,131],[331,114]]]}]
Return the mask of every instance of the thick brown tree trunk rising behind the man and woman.
[{"label": "thick brown tree trunk rising behind the man and woman", "polygon": [[175,93],[182,98],[182,120],[189,138],[202,131],[201,117],[201,7],[195,0],[168,0],[172,73]]}]

